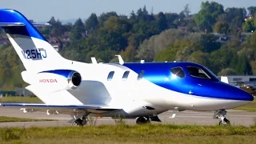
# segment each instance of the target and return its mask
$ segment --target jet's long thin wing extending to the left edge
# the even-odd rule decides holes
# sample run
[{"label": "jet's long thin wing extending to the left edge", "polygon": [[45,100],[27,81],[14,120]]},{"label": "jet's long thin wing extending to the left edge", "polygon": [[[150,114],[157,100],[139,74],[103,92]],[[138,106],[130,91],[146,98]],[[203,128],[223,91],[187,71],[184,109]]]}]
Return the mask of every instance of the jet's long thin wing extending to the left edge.
[{"label": "jet's long thin wing extending to the left edge", "polygon": [[88,110],[92,113],[104,113],[114,110],[121,110],[117,107],[107,105],[48,105],[39,103],[0,103],[0,106],[18,107],[24,113],[35,111],[46,111],[47,114],[70,114]]}]

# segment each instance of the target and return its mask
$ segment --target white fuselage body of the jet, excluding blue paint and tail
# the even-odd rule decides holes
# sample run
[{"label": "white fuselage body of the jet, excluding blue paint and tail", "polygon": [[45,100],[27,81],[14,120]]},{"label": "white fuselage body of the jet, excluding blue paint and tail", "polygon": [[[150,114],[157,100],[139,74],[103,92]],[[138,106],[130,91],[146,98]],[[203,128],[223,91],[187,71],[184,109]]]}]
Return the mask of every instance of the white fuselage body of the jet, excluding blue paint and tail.
[{"label": "white fuselage body of the jet, excluding blue paint and tail", "polygon": [[[131,117],[160,114],[166,110],[174,110],[175,107],[178,110],[222,110],[247,103],[247,101],[204,98],[167,90],[144,78],[138,80],[137,73],[119,64],[87,64],[68,61],[65,67],[78,71],[82,76],[82,84],[76,90],[68,90],[70,93],[68,95],[55,94],[55,98],[49,97],[49,101],[56,102],[57,98],[58,103],[64,105],[95,104],[120,107],[123,110],[122,114]],[[122,76],[126,70],[129,70],[130,74],[123,80]],[[114,76],[108,81],[110,71],[114,71]],[[147,110],[143,106],[153,107],[154,110]],[[100,115],[114,116],[116,113]]]}]

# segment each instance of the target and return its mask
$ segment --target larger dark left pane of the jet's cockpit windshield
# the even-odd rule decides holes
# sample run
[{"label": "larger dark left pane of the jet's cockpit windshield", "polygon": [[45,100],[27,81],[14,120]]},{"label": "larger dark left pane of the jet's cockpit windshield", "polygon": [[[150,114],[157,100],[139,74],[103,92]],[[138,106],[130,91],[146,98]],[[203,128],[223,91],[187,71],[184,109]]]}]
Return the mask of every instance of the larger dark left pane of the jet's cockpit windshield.
[{"label": "larger dark left pane of the jet's cockpit windshield", "polygon": [[208,78],[210,79],[210,76],[201,68],[196,66],[187,66],[186,67],[187,72],[192,76],[196,78]]}]

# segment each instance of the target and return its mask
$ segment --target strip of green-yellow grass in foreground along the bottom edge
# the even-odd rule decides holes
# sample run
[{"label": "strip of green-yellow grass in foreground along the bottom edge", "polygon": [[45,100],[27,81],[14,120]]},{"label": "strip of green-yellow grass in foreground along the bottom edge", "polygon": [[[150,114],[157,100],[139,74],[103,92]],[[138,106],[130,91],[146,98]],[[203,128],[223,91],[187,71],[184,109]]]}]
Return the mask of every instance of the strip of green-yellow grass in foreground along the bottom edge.
[{"label": "strip of green-yellow grass in foreground along the bottom edge", "polygon": [[0,128],[0,143],[254,143],[256,126],[84,126]]}]

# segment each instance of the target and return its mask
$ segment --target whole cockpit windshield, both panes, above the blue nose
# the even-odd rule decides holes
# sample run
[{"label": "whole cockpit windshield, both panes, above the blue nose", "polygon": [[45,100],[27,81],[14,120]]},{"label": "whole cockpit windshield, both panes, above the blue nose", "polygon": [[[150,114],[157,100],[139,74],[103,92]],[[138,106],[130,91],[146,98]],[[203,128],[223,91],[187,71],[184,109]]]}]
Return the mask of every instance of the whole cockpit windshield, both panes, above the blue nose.
[{"label": "whole cockpit windshield, both panes, above the blue nose", "polygon": [[198,66],[186,66],[186,70],[195,78],[218,79],[210,72],[210,70],[202,70],[202,68],[199,68]]}]

